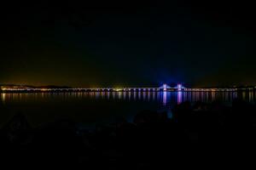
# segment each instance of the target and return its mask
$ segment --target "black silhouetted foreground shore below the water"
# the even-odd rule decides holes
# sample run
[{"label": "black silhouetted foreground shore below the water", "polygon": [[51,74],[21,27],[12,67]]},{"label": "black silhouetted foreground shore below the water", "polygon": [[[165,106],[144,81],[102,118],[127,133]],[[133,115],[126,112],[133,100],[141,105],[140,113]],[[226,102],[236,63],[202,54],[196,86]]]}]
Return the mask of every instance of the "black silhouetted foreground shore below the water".
[{"label": "black silhouetted foreground shore below the water", "polygon": [[245,168],[255,166],[256,105],[184,102],[166,112],[142,111],[91,132],[62,119],[31,127],[14,116],[0,133],[1,165],[83,169]]}]

